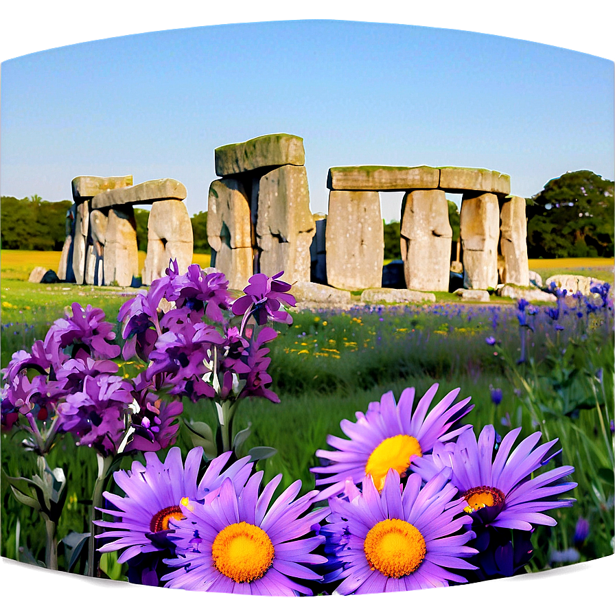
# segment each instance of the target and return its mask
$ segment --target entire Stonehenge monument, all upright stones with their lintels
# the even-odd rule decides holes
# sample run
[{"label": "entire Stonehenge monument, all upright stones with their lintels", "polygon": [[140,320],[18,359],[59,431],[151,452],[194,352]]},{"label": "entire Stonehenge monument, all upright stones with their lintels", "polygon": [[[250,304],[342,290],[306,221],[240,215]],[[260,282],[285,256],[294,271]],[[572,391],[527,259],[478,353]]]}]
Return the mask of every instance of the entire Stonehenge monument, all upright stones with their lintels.
[{"label": "entire Stonehenge monument, all upright stones with their lintels", "polygon": [[[398,270],[401,275],[403,263],[404,275],[396,284],[405,282],[404,292],[448,292],[451,272],[462,270],[465,300],[484,298],[484,292],[502,285],[509,290],[529,286],[525,199],[510,194],[510,177],[498,171],[331,167],[325,215],[310,211],[301,137],[277,133],[231,143],[216,148],[214,163],[218,178],[207,197],[207,239],[211,267],[227,276],[230,288],[241,290],[255,273],[283,271],[284,281],[299,286],[316,283],[340,292],[380,289],[380,192],[402,193]],[[142,282],[163,276],[170,259],[177,260],[180,272],[187,270],[193,237],[182,183],[163,178],[132,185],[130,175],[79,176],[72,191],[61,279],[132,284],[139,274],[135,205],[151,207]],[[461,194],[456,244],[447,194]],[[460,284],[457,275],[455,286]]]}]

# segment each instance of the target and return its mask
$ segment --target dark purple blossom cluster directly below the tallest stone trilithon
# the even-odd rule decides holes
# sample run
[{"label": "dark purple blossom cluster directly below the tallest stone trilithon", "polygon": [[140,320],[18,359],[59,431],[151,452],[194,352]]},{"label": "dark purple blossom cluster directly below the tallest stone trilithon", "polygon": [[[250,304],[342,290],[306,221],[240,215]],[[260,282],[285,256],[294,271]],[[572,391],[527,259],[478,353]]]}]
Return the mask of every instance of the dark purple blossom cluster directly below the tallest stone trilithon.
[{"label": "dark purple blossom cluster directly below the tallest stone trilithon", "polygon": [[[234,402],[248,396],[279,402],[268,389],[265,347],[277,333],[263,325],[292,322],[281,310],[281,301],[294,305],[286,292],[290,284],[278,279],[282,273],[272,278],[254,275],[244,296],[233,303],[222,273],[206,274],[191,265],[180,275],[172,262],[167,277],[122,306],[124,358],[136,354],[146,360],[147,380],[159,378],[168,393],[193,402],[206,397]],[[233,323],[235,316],[241,319],[240,327]],[[248,327],[251,321],[256,325]]]}]

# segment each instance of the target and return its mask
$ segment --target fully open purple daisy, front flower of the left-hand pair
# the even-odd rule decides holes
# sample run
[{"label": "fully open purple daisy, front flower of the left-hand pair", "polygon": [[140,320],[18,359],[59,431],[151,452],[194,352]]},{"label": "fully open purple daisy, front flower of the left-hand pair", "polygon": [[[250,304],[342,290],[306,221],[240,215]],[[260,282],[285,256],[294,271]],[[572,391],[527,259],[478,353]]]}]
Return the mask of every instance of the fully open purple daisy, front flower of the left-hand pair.
[{"label": "fully open purple daisy, front flower of the left-hand pair", "polygon": [[303,514],[316,491],[293,501],[301,480],[292,483],[269,507],[281,474],[259,496],[262,476],[262,472],[252,476],[240,494],[225,480],[203,504],[190,502],[181,507],[185,519],[173,522],[177,557],[164,560],[178,569],[162,577],[167,581],[165,587],[259,596],[312,595],[309,588],[290,577],[323,578],[309,568],[327,561],[312,553],[325,542],[324,536],[312,534],[312,526],[323,520],[329,509]]}]

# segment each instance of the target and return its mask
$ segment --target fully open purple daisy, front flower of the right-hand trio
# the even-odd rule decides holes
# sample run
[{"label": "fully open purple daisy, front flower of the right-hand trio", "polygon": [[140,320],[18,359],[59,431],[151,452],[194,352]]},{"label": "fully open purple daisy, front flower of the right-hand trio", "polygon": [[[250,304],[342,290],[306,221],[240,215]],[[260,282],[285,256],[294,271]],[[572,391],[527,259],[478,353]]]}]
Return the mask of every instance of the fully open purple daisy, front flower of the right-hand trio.
[{"label": "fully open purple daisy, front flower of the right-hand trio", "polygon": [[464,500],[453,500],[456,489],[443,473],[421,489],[413,474],[402,490],[399,474],[390,469],[382,493],[371,477],[362,494],[350,501],[329,500],[332,514],[325,526],[338,543],[343,568],[334,573],[344,580],[337,594],[381,594],[447,587],[467,579],[447,568],[474,570],[464,557],[478,553],[465,546],[472,531],[459,533],[472,519],[463,515]]}]

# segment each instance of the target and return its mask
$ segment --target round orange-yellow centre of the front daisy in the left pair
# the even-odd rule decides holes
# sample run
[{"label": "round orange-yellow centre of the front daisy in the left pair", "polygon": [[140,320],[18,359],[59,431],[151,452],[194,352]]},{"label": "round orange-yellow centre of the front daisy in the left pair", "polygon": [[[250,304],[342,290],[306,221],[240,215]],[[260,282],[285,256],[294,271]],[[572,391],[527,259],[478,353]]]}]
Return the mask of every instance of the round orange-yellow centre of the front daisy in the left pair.
[{"label": "round orange-yellow centre of the front daisy in the left pair", "polygon": [[245,521],[225,527],[211,546],[213,565],[235,583],[260,579],[271,566],[273,553],[267,533]]}]

